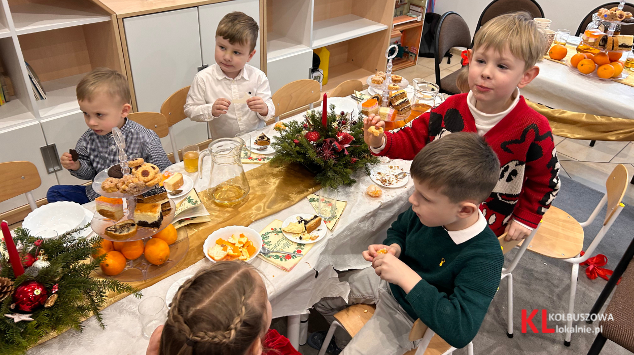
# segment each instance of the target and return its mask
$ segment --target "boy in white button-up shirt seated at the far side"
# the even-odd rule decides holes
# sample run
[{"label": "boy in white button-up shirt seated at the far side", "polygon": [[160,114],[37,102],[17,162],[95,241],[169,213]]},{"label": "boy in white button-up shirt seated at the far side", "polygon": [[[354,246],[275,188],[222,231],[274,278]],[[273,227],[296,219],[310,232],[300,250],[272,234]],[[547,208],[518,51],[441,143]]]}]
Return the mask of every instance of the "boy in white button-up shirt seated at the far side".
[{"label": "boy in white button-up shirt seated at the far side", "polygon": [[[209,122],[213,139],[261,129],[275,115],[269,80],[247,64],[256,54],[258,30],[256,21],[242,12],[225,15],[216,29],[216,64],[191,82],[184,112],[193,121]],[[247,103],[233,102],[245,96]]]}]

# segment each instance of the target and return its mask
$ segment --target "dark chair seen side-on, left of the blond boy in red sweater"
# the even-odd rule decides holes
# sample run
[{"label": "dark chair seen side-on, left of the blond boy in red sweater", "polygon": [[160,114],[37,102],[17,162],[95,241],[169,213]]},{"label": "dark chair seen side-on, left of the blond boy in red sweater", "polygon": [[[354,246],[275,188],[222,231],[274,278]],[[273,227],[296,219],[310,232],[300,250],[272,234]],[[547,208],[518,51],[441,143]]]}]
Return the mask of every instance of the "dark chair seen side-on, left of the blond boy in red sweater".
[{"label": "dark chair seen side-on, left of the blond boy in red sweater", "polygon": [[471,42],[471,32],[469,26],[462,16],[453,11],[443,14],[438,22],[436,30],[436,53],[434,53],[434,63],[436,65],[436,84],[440,87],[441,93],[459,94],[460,89],[456,86],[456,76],[460,70],[456,70],[443,79],[440,77],[440,63],[443,61],[445,53],[453,47],[469,48]]}]

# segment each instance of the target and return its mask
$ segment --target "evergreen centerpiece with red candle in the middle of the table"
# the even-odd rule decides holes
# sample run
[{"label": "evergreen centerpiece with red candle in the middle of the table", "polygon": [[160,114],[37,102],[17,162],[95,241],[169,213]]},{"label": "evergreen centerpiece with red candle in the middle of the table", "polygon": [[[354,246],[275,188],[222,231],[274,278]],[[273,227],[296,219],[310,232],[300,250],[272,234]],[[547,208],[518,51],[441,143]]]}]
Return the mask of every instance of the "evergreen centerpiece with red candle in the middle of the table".
[{"label": "evergreen centerpiece with red candle in the middle of the table", "polygon": [[271,164],[302,164],[322,187],[351,186],[354,172],[369,175],[370,165],[379,160],[363,141],[363,115],[335,112],[335,105],[327,108],[324,94],[321,113],[308,110],[306,121],[276,124],[280,137],[271,144],[277,152]]}]

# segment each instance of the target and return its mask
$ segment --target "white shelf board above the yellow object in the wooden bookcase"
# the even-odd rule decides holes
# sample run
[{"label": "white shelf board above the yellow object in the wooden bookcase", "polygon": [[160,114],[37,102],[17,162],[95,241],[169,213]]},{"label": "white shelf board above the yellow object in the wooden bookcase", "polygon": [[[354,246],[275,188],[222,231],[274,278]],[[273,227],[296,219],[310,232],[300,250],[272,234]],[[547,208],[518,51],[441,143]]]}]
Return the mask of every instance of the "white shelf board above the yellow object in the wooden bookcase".
[{"label": "white shelf board above the yellow object in the wooden bookcase", "polygon": [[349,14],[328,18],[313,25],[312,48],[321,48],[387,29],[387,25]]}]

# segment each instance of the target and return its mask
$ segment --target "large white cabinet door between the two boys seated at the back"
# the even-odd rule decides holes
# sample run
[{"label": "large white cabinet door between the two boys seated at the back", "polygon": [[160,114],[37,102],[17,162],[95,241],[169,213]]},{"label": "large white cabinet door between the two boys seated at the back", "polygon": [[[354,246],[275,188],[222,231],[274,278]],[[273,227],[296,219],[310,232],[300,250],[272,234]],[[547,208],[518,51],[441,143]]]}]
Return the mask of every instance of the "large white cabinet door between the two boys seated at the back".
[{"label": "large white cabinet door between the two boys seated at the back", "polygon": [[[163,101],[190,86],[202,65],[198,8],[129,17],[123,22],[137,108],[160,112]],[[208,139],[205,123],[183,120],[172,130],[179,148]],[[172,152],[169,137],[161,138],[161,143],[165,152]]]}]

